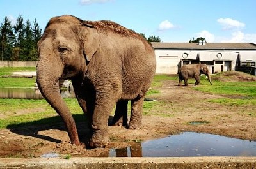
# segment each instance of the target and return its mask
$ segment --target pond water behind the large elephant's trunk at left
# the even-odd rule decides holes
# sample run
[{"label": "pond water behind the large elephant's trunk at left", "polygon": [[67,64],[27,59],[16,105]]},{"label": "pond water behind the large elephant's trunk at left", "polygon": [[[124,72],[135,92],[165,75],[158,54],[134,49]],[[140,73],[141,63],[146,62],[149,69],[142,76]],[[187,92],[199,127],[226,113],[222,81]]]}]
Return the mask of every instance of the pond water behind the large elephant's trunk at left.
[{"label": "pond water behind the large elephant's trunk at left", "polygon": [[[63,98],[75,98],[74,90],[61,90]],[[0,98],[13,99],[43,99],[42,94],[37,88],[0,88]]]}]

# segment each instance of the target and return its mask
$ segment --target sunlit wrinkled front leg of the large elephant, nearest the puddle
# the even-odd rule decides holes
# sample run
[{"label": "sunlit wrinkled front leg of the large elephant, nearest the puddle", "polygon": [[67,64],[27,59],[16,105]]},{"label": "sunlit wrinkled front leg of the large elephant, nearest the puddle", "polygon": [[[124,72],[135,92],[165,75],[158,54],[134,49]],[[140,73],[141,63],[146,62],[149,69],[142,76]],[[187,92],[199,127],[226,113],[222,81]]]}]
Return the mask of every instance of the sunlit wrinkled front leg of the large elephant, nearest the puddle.
[{"label": "sunlit wrinkled front leg of the large elephant, nearest the puddle", "polygon": [[109,99],[99,99],[95,101],[95,108],[92,115],[92,138],[90,147],[105,147],[109,144],[108,117],[115,105],[115,101]]}]

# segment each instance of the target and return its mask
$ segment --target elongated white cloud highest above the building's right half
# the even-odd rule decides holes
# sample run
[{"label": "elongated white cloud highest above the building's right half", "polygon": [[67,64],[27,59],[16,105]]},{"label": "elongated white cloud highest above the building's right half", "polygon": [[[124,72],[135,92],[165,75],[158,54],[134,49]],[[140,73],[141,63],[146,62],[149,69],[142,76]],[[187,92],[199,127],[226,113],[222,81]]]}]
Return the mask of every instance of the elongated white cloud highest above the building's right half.
[{"label": "elongated white cloud highest above the building's right half", "polygon": [[245,27],[245,24],[243,22],[232,20],[231,18],[219,18],[217,22],[219,22],[223,26],[222,29],[224,30],[240,29]]}]

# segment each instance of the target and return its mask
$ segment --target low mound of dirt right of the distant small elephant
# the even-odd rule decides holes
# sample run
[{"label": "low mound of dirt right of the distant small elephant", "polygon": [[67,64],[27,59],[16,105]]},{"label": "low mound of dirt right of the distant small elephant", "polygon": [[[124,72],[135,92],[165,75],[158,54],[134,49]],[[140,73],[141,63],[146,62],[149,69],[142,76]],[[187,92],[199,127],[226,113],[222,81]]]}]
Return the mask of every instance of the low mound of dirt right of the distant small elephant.
[{"label": "low mound of dirt right of the distant small elephant", "polygon": [[212,80],[218,80],[220,82],[237,82],[237,81],[256,81],[256,77],[240,71],[225,71],[212,75]]}]

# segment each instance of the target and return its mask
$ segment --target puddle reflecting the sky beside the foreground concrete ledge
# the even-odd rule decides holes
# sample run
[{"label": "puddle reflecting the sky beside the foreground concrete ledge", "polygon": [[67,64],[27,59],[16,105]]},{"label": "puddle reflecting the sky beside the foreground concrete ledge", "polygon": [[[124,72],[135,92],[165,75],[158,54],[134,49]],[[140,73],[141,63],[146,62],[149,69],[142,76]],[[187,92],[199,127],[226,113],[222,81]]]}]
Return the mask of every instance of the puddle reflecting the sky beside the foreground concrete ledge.
[{"label": "puddle reflecting the sky beside the foreground concrete ledge", "polygon": [[256,156],[256,142],[206,133],[185,132],[109,151],[109,157],[172,156]]}]

